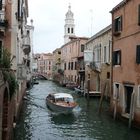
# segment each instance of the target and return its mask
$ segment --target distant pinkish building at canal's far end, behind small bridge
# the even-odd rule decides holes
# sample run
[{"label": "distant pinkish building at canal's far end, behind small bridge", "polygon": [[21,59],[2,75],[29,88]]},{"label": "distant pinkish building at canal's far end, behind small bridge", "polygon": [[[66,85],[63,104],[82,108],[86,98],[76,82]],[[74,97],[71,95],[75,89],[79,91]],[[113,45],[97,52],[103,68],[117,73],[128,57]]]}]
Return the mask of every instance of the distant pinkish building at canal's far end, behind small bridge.
[{"label": "distant pinkish building at canal's far end, behind small bridge", "polygon": [[53,55],[51,53],[42,53],[38,58],[38,72],[45,74],[48,79],[52,78]]}]

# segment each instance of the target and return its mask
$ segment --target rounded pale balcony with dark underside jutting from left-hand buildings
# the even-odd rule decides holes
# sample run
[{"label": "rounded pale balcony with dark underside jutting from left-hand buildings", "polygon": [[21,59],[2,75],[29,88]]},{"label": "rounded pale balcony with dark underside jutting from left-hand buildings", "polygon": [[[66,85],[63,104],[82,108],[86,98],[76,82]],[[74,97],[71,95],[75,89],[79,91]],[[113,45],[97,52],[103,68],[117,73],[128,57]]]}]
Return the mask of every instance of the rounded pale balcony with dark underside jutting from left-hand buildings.
[{"label": "rounded pale balcony with dark underside jutting from left-hand buildings", "polygon": [[31,45],[30,45],[30,37],[26,36],[23,38],[23,52],[25,55],[28,55],[31,51]]}]

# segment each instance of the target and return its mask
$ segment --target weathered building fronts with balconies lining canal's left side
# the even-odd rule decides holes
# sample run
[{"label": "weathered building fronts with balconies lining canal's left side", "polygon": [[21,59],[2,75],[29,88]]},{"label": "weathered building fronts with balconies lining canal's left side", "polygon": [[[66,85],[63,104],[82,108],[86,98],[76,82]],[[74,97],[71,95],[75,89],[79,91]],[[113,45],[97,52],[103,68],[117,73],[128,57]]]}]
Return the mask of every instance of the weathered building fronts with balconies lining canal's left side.
[{"label": "weathered building fronts with balconies lining canal's left side", "polygon": [[26,90],[31,51],[27,17],[27,0],[0,1],[0,140],[12,138]]}]

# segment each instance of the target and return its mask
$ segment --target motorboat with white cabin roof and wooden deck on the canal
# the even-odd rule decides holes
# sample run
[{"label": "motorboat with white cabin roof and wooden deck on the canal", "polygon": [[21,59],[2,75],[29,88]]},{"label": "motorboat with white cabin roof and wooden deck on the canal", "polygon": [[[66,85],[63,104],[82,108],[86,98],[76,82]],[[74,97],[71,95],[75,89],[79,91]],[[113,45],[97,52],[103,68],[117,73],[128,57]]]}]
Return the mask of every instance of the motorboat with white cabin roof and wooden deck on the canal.
[{"label": "motorboat with white cabin roof and wooden deck on the canal", "polygon": [[71,94],[68,93],[50,93],[46,97],[47,106],[56,112],[71,113],[77,106]]}]

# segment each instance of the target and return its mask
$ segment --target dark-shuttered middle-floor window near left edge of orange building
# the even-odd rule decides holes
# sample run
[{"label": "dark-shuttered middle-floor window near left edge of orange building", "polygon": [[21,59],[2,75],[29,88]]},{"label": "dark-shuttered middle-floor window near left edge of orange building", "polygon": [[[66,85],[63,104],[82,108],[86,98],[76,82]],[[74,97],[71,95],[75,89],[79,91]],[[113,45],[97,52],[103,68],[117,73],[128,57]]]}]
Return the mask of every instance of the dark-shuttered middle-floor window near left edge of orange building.
[{"label": "dark-shuttered middle-floor window near left edge of orange building", "polygon": [[121,50],[113,52],[113,65],[121,65]]}]

